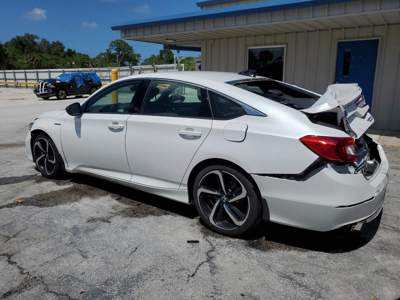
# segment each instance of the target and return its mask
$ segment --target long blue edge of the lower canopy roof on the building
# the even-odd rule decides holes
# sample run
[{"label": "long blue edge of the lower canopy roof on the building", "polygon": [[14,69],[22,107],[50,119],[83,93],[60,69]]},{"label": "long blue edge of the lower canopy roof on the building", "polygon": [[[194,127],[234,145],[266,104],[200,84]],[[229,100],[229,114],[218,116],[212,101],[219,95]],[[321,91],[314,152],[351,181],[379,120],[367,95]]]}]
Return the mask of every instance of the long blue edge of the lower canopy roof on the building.
[{"label": "long blue edge of the lower canopy roof on the building", "polygon": [[[215,1],[215,0],[214,0]],[[233,16],[243,16],[246,14],[256,14],[260,12],[274,12],[277,10],[288,10],[304,8],[332,3],[348,2],[349,0],[270,0],[238,6],[228,6],[184,14],[174,14],[156,18],[133,20],[111,25],[112,30],[136,29],[150,26],[162,26],[183,22],[211,20],[216,18],[227,18]]]}]

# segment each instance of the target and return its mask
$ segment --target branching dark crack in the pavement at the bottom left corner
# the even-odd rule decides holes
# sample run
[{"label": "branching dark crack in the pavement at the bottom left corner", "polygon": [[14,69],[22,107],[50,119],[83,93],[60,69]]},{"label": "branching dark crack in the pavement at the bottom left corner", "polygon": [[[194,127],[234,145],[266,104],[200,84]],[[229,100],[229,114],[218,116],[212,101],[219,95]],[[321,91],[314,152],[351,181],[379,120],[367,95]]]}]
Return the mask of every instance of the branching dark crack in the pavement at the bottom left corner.
[{"label": "branching dark crack in the pavement at the bottom left corner", "polygon": [[0,256],[5,256],[7,258],[7,263],[12,266],[16,266],[18,268],[20,274],[24,275],[26,277],[24,278],[24,280],[22,280],[22,282],[20,284],[18,284],[18,286],[14,287],[14,288],[8,290],[7,292],[5,292],[4,294],[2,294],[2,296],[0,296],[0,299],[5,299],[14,294],[20,294],[22,292],[26,292],[28,290],[31,290],[35,286],[43,284],[44,290],[46,291],[46,293],[50,293],[50,294],[53,294],[56,296],[63,296],[63,297],[66,297],[68,300],[76,300],[75,298],[71,298],[68,294],[63,294],[63,293],[59,293],[59,292],[50,290],[50,288],[48,287],[48,284],[46,284],[46,282],[44,282],[44,279],[42,276],[31,275],[30,272],[25,270],[25,268],[20,266],[17,262],[11,260],[11,258],[14,254],[1,253]]}]

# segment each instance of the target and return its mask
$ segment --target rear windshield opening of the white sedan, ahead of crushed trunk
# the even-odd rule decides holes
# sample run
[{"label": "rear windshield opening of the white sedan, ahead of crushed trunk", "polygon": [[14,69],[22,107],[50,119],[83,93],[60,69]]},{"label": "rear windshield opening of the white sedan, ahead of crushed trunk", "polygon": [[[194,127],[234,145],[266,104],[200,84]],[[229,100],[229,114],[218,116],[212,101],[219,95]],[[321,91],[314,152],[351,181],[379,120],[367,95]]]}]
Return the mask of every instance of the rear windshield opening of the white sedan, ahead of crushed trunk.
[{"label": "rear windshield opening of the white sedan, ahead of crushed trunk", "polygon": [[271,79],[227,82],[298,110],[312,106],[320,95]]}]

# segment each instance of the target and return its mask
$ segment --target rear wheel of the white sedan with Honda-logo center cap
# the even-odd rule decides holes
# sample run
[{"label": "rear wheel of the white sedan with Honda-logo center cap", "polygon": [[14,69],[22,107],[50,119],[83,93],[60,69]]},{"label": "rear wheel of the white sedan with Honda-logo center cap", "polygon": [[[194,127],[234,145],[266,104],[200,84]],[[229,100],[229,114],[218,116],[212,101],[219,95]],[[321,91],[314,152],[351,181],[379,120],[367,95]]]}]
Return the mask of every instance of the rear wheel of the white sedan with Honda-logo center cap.
[{"label": "rear wheel of the white sedan with Honda-logo center cap", "polygon": [[193,198],[202,220],[220,234],[240,236],[261,220],[262,205],[254,185],[232,167],[215,164],[200,171]]}]

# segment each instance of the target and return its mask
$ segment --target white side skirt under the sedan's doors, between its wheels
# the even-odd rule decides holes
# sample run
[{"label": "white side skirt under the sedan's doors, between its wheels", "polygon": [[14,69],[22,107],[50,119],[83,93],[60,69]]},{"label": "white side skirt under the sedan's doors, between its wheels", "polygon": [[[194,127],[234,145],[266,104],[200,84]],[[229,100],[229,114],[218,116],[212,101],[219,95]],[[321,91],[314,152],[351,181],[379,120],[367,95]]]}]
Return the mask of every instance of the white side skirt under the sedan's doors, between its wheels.
[{"label": "white side skirt under the sedan's doors, between its wheels", "polygon": [[172,188],[157,188],[154,186],[145,186],[142,184],[137,184],[137,183],[126,181],[126,180],[121,180],[118,178],[105,176],[102,174],[98,174],[98,173],[94,173],[94,172],[90,172],[90,171],[86,171],[86,170],[79,170],[79,169],[73,169],[73,168],[65,168],[65,170],[70,173],[79,173],[79,174],[93,176],[96,178],[114,182],[116,184],[122,184],[122,185],[128,186],[130,188],[135,188],[136,190],[140,190],[143,192],[147,192],[150,194],[154,194],[154,195],[168,198],[171,200],[175,200],[178,202],[191,204],[189,201],[188,190],[178,190],[178,189],[172,189]]}]

